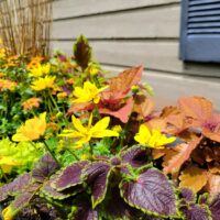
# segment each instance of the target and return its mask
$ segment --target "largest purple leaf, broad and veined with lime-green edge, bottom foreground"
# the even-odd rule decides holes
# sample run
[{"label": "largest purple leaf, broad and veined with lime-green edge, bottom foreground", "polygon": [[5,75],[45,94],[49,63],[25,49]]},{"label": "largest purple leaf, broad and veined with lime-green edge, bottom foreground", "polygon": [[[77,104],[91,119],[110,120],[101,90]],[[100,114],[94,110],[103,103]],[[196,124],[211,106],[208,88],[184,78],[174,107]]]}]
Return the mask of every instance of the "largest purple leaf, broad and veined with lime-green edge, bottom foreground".
[{"label": "largest purple leaf, broad and veined with lime-green edge, bottom foreground", "polygon": [[148,168],[135,179],[122,179],[120,183],[122,198],[132,207],[145,213],[158,217],[176,217],[176,196],[166,176]]}]

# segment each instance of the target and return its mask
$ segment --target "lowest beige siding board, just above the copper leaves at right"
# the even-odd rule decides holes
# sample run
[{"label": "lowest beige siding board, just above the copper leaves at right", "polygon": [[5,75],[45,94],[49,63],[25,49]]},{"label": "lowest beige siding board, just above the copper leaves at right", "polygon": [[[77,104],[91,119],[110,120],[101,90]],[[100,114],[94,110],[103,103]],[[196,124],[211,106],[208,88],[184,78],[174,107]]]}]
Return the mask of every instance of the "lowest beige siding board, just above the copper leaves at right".
[{"label": "lowest beige siding board, just above the copper leaves at right", "polygon": [[[113,73],[124,69],[112,66],[103,66],[103,68]],[[150,82],[154,88],[157,109],[176,105],[177,99],[183,96],[204,96],[213,102],[217,110],[220,110],[220,79],[174,76],[168,73],[147,70],[144,72],[142,80]]]}]

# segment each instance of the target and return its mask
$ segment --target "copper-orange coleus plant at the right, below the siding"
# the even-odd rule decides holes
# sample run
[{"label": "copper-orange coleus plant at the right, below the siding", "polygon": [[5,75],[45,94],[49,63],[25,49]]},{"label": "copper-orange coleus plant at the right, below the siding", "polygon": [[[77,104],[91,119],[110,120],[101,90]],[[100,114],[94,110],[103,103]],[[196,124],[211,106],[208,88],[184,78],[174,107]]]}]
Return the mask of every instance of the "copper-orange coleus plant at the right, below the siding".
[{"label": "copper-orange coleus plant at the right, below the siding", "polygon": [[[184,97],[177,107],[166,107],[158,118],[148,121],[154,127],[184,139],[187,143],[154,151],[163,156],[165,174],[172,174],[194,193],[220,191],[220,114],[204,97]],[[198,182],[199,179],[199,182]]]}]

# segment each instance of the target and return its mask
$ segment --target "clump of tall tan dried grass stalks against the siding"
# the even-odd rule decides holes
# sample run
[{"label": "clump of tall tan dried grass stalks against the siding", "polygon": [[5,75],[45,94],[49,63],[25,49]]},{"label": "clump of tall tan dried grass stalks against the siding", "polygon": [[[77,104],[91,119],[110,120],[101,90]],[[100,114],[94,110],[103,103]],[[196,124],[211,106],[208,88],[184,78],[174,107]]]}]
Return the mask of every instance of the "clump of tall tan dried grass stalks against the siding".
[{"label": "clump of tall tan dried grass stalks against the siding", "polygon": [[0,1],[0,37],[13,55],[50,52],[52,0]]}]

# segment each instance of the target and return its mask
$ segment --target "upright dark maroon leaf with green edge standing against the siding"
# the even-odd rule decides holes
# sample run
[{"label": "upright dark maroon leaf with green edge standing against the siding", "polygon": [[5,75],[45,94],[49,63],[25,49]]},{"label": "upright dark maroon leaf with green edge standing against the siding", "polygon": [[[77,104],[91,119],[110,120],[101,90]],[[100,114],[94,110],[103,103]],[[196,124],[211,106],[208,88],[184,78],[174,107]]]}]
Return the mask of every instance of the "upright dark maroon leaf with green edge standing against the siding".
[{"label": "upright dark maroon leaf with green edge standing against the siding", "polygon": [[80,35],[74,45],[74,56],[76,63],[85,70],[91,61],[91,47],[84,35]]}]

